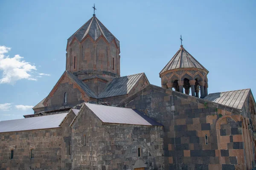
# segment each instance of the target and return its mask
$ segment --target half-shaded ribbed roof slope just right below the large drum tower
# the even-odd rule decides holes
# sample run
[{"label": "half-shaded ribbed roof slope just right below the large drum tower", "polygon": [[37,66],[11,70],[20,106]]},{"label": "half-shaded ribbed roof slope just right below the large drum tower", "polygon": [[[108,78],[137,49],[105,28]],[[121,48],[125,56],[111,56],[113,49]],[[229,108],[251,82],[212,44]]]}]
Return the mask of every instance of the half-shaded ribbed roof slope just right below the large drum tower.
[{"label": "half-shaded ribbed roof slope just right below the large drum tower", "polygon": [[144,73],[113,79],[99,94],[99,99],[128,94]]}]

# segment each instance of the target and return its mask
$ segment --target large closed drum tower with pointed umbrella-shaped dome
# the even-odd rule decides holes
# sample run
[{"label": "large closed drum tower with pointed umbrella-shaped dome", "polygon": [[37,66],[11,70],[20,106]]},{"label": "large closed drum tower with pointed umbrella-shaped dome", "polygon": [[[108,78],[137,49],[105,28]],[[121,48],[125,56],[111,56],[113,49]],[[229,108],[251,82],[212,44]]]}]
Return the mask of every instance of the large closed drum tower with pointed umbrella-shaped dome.
[{"label": "large closed drum tower with pointed umbrella-shaped dome", "polygon": [[68,40],[66,70],[98,95],[112,79],[120,77],[119,40],[95,14]]}]

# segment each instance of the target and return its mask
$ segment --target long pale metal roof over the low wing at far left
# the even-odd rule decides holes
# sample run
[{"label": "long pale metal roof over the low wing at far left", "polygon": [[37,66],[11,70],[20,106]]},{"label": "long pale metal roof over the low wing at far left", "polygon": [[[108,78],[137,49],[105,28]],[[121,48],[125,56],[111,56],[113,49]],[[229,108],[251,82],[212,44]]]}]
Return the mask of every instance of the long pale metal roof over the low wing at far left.
[{"label": "long pale metal roof over the low wing at far left", "polygon": [[0,121],[0,133],[59,127],[67,113]]}]

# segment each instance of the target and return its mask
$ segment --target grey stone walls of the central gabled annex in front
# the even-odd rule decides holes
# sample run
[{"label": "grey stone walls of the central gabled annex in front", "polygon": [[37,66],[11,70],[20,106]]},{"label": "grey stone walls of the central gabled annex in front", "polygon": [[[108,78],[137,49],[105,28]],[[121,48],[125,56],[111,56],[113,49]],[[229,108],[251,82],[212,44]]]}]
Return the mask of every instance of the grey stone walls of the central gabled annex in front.
[{"label": "grey stone walls of the central gabled annex in front", "polygon": [[163,127],[102,124],[84,108],[72,128],[74,170],[163,169]]}]

